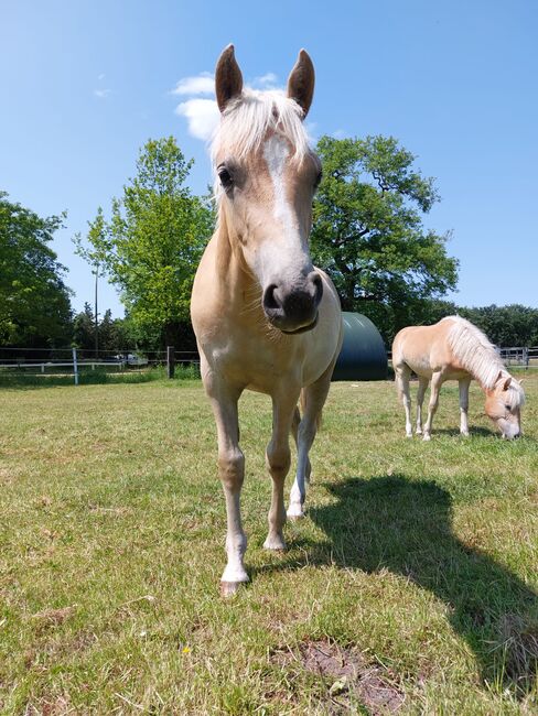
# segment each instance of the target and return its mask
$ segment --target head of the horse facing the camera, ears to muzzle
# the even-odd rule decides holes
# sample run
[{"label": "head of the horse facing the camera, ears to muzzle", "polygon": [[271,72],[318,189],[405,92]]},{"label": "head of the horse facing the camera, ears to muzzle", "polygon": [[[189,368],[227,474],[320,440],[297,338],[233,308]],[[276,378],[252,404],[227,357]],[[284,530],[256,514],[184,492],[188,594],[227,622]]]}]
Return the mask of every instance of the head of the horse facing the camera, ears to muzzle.
[{"label": "head of the horse facing the camera, ears to muzzle", "polygon": [[252,91],[244,88],[229,45],[218,59],[215,85],[220,124],[212,156],[219,224],[255,280],[269,323],[283,333],[309,330],[323,293],[309,251],[321,164],[302,121],[314,90],[312,61],[301,50],[286,94]]}]

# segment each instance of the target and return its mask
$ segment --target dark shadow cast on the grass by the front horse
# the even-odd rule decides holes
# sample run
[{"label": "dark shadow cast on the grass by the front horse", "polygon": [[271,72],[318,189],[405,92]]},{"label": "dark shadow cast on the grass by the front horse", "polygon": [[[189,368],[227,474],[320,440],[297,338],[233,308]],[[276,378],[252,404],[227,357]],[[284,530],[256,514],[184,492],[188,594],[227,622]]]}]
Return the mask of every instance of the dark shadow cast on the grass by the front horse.
[{"label": "dark shadow cast on the grass by the front horse", "polygon": [[536,684],[538,595],[452,530],[452,498],[402,475],[325,485],[337,498],[310,518],[330,543],[311,562],[375,573],[387,568],[450,606],[452,628],[473,650],[484,681],[524,696]]}]

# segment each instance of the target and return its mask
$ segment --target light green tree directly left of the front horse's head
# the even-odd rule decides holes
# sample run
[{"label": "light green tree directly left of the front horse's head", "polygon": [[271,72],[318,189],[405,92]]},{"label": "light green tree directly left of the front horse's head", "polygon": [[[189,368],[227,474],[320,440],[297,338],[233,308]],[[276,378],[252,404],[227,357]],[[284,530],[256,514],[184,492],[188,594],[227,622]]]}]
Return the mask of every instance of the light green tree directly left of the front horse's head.
[{"label": "light green tree directly left of the front horse's head", "polygon": [[87,256],[119,286],[146,344],[180,345],[190,324],[194,273],[214,223],[208,202],[184,186],[192,165],[172,137],[148,141],[110,221],[99,211],[90,223]]}]

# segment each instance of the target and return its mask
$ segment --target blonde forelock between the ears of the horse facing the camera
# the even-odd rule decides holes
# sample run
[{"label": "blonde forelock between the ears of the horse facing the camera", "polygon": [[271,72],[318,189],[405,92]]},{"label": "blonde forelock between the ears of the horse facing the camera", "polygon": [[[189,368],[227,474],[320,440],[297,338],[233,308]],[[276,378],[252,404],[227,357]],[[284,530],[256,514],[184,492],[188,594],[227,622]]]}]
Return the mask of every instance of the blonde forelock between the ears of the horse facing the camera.
[{"label": "blonde forelock between the ears of the horse facing the camera", "polygon": [[293,156],[301,162],[312,152],[302,118],[301,107],[281,91],[244,89],[220,116],[211,143],[213,166],[217,156],[232,155],[241,160],[256,152],[268,132],[286,137],[293,148]]}]

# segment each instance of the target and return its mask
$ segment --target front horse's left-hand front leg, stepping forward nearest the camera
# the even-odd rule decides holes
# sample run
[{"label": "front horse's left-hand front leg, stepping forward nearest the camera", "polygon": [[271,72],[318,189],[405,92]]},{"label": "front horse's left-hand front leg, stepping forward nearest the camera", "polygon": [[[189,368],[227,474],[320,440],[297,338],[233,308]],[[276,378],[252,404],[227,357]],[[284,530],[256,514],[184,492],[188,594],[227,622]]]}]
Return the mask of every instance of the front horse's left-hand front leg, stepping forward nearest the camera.
[{"label": "front horse's left-hand front leg, stepping forward nearest the camera", "polygon": [[239,448],[237,412],[240,390],[230,389],[214,376],[206,378],[204,383],[217,426],[218,477],[226,499],[228,562],[220,577],[220,592],[224,596],[230,596],[237,592],[240,584],[248,582],[244,564],[247,536],[243,530],[240,513],[240,493],[245,479],[245,456]]}]

